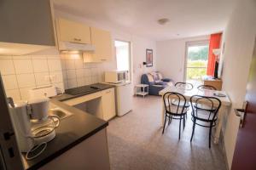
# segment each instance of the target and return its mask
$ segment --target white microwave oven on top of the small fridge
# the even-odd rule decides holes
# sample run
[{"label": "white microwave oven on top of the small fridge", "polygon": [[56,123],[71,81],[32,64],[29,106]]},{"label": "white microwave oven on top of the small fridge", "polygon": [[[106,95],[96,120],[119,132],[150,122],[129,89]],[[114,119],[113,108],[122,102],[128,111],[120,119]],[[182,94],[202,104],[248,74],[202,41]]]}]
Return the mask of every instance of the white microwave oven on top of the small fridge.
[{"label": "white microwave oven on top of the small fridge", "polygon": [[129,78],[129,71],[106,71],[105,82],[120,83],[126,82]]}]

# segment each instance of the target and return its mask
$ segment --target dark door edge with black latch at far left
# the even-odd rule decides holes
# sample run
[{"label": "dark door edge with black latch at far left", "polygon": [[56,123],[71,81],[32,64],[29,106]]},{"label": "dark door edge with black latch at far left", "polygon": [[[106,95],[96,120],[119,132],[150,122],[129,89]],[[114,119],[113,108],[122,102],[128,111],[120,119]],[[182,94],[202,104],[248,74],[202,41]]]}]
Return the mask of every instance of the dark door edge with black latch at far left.
[{"label": "dark door edge with black latch at far left", "polygon": [[0,74],[0,169],[24,169]]}]

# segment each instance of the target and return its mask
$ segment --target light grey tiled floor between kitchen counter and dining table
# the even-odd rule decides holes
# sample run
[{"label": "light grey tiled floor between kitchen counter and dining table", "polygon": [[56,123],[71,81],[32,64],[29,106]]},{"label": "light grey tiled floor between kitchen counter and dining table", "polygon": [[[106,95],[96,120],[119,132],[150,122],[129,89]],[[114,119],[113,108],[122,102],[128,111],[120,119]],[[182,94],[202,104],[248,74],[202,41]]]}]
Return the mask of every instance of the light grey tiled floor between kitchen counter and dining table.
[{"label": "light grey tiled floor between kitchen counter and dining table", "polygon": [[[218,144],[208,148],[208,129],[195,127],[190,143],[192,122],[178,140],[178,121],[160,127],[161,98],[149,96],[133,99],[133,111],[114,118],[108,126],[108,144],[111,168],[122,169],[196,169],[224,170],[225,159]],[[190,113],[189,113],[190,114]]]}]

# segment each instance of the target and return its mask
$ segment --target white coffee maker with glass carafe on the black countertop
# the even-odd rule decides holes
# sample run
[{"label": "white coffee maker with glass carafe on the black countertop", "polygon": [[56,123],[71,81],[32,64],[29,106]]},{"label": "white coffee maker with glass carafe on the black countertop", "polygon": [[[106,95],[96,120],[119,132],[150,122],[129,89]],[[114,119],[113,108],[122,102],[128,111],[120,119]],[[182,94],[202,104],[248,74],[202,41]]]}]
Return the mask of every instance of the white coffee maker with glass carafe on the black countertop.
[{"label": "white coffee maker with glass carafe on the black countertop", "polygon": [[58,116],[48,115],[49,98],[32,98],[9,106],[20,151],[28,153],[41,144],[45,149],[60,123]]}]

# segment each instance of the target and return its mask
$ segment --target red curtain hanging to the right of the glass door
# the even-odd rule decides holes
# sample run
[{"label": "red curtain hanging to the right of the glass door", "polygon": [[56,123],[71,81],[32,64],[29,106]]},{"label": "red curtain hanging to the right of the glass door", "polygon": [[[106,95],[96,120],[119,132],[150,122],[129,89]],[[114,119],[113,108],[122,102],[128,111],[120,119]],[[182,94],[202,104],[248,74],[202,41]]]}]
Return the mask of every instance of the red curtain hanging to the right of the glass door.
[{"label": "red curtain hanging to the right of the glass door", "polygon": [[209,43],[207,76],[214,76],[216,56],[212,53],[212,49],[219,48],[222,33],[211,34]]}]

